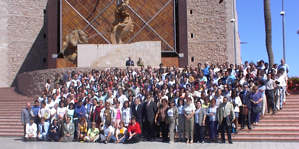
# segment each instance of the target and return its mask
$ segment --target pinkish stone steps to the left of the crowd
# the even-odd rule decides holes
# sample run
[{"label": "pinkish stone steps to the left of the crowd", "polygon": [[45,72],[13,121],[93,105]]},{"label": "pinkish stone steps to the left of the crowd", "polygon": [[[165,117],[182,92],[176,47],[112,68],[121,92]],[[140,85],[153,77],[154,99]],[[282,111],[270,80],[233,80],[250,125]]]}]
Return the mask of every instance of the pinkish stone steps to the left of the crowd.
[{"label": "pinkish stone steps to the left of the crowd", "polygon": [[0,88],[0,137],[24,136],[21,112],[27,103],[33,106],[34,99],[21,95],[18,88]]}]

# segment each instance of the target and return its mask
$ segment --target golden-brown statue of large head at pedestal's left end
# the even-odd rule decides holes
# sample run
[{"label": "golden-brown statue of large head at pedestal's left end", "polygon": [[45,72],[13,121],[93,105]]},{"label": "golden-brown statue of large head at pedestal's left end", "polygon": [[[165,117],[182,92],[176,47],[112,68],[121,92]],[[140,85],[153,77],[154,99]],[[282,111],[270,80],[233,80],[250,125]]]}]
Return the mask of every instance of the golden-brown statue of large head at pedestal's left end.
[{"label": "golden-brown statue of large head at pedestal's left end", "polygon": [[64,58],[77,65],[77,44],[88,43],[87,35],[81,30],[74,30],[67,36],[62,45],[62,54]]}]

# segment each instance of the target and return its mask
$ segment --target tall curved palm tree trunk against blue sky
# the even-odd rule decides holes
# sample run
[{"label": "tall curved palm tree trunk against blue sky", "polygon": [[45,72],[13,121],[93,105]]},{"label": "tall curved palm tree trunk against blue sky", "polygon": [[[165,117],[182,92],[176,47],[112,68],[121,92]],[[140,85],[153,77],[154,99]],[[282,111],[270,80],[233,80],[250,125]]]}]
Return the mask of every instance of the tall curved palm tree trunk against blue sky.
[{"label": "tall curved palm tree trunk against blue sky", "polygon": [[272,51],[272,25],[271,25],[271,11],[270,11],[270,0],[264,0],[264,17],[265,17],[265,28],[266,28],[266,48],[269,58],[269,66],[274,65],[274,55]]}]

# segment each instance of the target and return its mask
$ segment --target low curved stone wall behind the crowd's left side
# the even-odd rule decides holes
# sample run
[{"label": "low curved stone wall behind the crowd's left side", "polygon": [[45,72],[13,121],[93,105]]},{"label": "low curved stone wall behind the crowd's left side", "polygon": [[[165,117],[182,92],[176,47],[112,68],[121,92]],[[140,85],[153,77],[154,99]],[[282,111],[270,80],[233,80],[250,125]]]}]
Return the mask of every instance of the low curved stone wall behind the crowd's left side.
[{"label": "low curved stone wall behind the crowd's left side", "polygon": [[[120,67],[118,67],[120,68]],[[140,67],[133,67],[140,69]],[[67,70],[71,70],[71,72],[74,71],[80,71],[81,74],[84,72],[89,73],[91,70],[106,70],[107,68],[96,68],[96,67],[89,67],[89,68],[60,68],[60,69],[46,69],[46,70],[37,70],[37,71],[31,71],[27,73],[22,73],[18,76],[18,88],[19,92],[22,95],[28,96],[28,97],[34,97],[37,98],[41,91],[45,89],[45,83],[47,79],[51,80],[51,88],[54,89],[54,79],[55,75],[60,75],[60,78],[62,79],[63,74],[66,73]],[[126,67],[123,68],[126,70]]]}]

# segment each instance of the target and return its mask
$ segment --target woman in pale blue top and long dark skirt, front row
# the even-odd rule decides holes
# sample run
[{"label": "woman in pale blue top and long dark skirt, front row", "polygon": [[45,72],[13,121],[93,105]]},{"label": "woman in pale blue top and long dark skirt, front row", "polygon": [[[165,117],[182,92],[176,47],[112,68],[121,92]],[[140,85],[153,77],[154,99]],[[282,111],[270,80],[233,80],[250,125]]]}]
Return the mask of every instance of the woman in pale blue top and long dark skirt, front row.
[{"label": "woman in pale blue top and long dark skirt, front row", "polygon": [[209,137],[212,140],[212,143],[216,142],[216,136],[218,134],[217,131],[218,120],[216,117],[217,108],[218,106],[216,106],[216,100],[212,99],[210,101],[210,107],[208,107],[206,113],[207,116],[209,117]]}]

